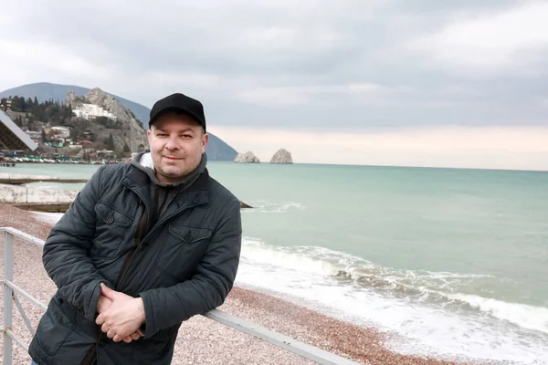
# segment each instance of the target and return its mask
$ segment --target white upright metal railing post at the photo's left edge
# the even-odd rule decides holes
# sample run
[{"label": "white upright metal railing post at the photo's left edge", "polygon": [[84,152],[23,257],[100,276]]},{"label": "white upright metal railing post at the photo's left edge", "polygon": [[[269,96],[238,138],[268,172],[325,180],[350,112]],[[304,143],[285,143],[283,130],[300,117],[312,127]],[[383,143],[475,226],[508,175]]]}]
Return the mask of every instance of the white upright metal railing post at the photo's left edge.
[{"label": "white upright metal railing post at the photo's left edge", "polygon": [[[4,232],[4,280],[14,279],[14,236]],[[12,364],[12,339],[7,333],[12,329],[14,291],[4,281],[4,363]]]}]

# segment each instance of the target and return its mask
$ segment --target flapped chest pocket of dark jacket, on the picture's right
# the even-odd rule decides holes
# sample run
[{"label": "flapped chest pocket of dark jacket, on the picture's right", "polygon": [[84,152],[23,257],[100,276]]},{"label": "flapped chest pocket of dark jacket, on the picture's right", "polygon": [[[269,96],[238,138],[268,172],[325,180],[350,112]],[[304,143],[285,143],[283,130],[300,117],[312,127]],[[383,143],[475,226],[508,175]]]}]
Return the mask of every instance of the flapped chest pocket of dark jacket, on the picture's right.
[{"label": "flapped chest pocket of dark jacket, on the picture's right", "polygon": [[205,227],[170,224],[163,242],[157,268],[177,281],[192,276],[212,236]]}]

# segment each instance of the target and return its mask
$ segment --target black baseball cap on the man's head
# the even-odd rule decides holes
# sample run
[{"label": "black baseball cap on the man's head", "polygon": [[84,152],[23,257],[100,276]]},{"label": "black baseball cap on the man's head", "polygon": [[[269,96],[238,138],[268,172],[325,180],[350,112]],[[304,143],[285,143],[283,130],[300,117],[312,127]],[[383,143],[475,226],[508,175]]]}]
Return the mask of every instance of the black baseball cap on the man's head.
[{"label": "black baseball cap on the man's head", "polygon": [[153,110],[151,110],[149,128],[153,125],[154,120],[157,120],[160,114],[166,111],[177,111],[187,114],[204,127],[205,130],[204,106],[200,101],[181,93],[169,95],[154,103]]}]

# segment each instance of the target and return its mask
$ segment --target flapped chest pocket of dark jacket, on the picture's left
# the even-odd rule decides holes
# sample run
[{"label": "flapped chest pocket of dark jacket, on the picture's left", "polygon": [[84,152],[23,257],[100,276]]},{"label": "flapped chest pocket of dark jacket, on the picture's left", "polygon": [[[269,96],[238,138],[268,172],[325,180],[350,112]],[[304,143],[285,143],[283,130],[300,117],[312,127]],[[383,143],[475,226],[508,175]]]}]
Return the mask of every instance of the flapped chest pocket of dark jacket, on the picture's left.
[{"label": "flapped chest pocket of dark jacket, on the picture's left", "polygon": [[97,214],[97,225],[91,255],[116,257],[134,218],[102,202],[95,204],[94,210]]}]

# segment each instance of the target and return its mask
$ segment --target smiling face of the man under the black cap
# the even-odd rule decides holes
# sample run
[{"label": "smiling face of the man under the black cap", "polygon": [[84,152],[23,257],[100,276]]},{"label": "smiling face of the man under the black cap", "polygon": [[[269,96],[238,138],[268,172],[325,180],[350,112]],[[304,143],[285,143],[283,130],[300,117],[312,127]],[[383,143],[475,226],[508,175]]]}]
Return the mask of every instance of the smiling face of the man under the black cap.
[{"label": "smiling face of the man under the black cap", "polygon": [[209,136],[184,114],[163,113],[148,131],[156,178],[178,183],[200,164]]}]

